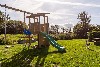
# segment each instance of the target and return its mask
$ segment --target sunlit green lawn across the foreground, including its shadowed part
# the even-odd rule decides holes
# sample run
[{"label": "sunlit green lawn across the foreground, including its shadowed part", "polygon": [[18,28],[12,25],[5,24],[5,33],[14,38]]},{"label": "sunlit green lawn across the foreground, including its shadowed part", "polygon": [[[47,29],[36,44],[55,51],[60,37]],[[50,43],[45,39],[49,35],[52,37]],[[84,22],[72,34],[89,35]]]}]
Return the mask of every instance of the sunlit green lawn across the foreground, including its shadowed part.
[{"label": "sunlit green lawn across the foreground, including its shadowed part", "polygon": [[[5,48],[0,45],[2,67],[100,67],[100,46],[92,42],[89,49],[84,39],[58,40],[66,48],[66,53],[59,53],[50,45],[49,48],[27,49],[23,45]],[[33,43],[34,45],[36,43]]]}]

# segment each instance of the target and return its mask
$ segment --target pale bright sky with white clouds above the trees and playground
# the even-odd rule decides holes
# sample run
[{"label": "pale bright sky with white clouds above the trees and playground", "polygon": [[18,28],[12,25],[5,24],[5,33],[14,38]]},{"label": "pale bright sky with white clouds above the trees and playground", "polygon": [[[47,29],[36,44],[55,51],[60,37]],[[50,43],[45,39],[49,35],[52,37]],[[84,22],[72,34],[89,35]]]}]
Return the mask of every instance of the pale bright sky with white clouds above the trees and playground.
[{"label": "pale bright sky with white clouds above the trees and playground", "polygon": [[[75,25],[79,22],[78,14],[86,11],[89,16],[91,15],[90,23],[100,25],[100,0],[0,0],[0,4],[7,4],[31,13],[50,13],[48,16],[51,25]],[[4,12],[3,7],[0,7],[0,10]],[[7,14],[12,20],[24,20],[23,13],[7,9]]]}]

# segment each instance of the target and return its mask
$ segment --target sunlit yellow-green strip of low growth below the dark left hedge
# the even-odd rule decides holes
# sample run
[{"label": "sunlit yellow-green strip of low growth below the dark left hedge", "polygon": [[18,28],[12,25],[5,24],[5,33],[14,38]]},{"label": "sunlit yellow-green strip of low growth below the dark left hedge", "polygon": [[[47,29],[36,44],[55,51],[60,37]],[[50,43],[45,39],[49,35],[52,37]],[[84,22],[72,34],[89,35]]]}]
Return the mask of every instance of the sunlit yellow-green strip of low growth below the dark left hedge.
[{"label": "sunlit yellow-green strip of low growth below the dark left hedge", "polygon": [[[15,45],[18,43],[19,40],[28,40],[29,38],[24,38],[26,37],[25,34],[7,34],[6,35],[6,43],[5,43],[5,35],[1,34],[0,35],[0,45]],[[37,35],[31,35],[34,39],[37,39]]]}]

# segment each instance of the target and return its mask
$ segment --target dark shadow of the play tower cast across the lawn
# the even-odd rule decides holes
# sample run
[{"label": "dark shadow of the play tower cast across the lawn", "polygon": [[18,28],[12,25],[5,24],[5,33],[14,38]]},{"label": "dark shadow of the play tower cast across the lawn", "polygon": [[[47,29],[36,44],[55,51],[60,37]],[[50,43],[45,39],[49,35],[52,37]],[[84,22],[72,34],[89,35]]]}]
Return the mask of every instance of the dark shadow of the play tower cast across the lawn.
[{"label": "dark shadow of the play tower cast across the lawn", "polygon": [[[41,67],[44,65],[48,54],[59,53],[58,51],[48,52],[48,48],[41,49],[23,49],[9,59],[2,62],[2,67]],[[30,65],[34,57],[37,57],[35,65]],[[41,60],[42,59],[42,60]],[[33,60],[34,61],[34,60]],[[41,61],[41,63],[40,63]]]}]

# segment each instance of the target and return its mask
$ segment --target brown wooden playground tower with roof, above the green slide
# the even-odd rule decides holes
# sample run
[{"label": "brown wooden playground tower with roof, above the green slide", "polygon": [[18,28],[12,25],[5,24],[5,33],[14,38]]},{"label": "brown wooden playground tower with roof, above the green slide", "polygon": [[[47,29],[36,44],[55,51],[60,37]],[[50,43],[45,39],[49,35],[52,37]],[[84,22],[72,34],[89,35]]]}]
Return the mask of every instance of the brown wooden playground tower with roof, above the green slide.
[{"label": "brown wooden playground tower with roof, above the green slide", "polygon": [[[34,35],[38,34],[38,47],[49,46],[49,42],[46,40],[46,38],[40,35],[40,32],[48,33],[49,23],[48,23],[48,16],[46,16],[46,14],[50,14],[50,13],[37,13],[37,14],[31,14],[30,16],[26,16],[26,18],[29,18],[29,30]],[[44,18],[43,24],[41,24],[40,21],[41,16]],[[30,22],[31,18],[34,19],[34,23]]]}]

